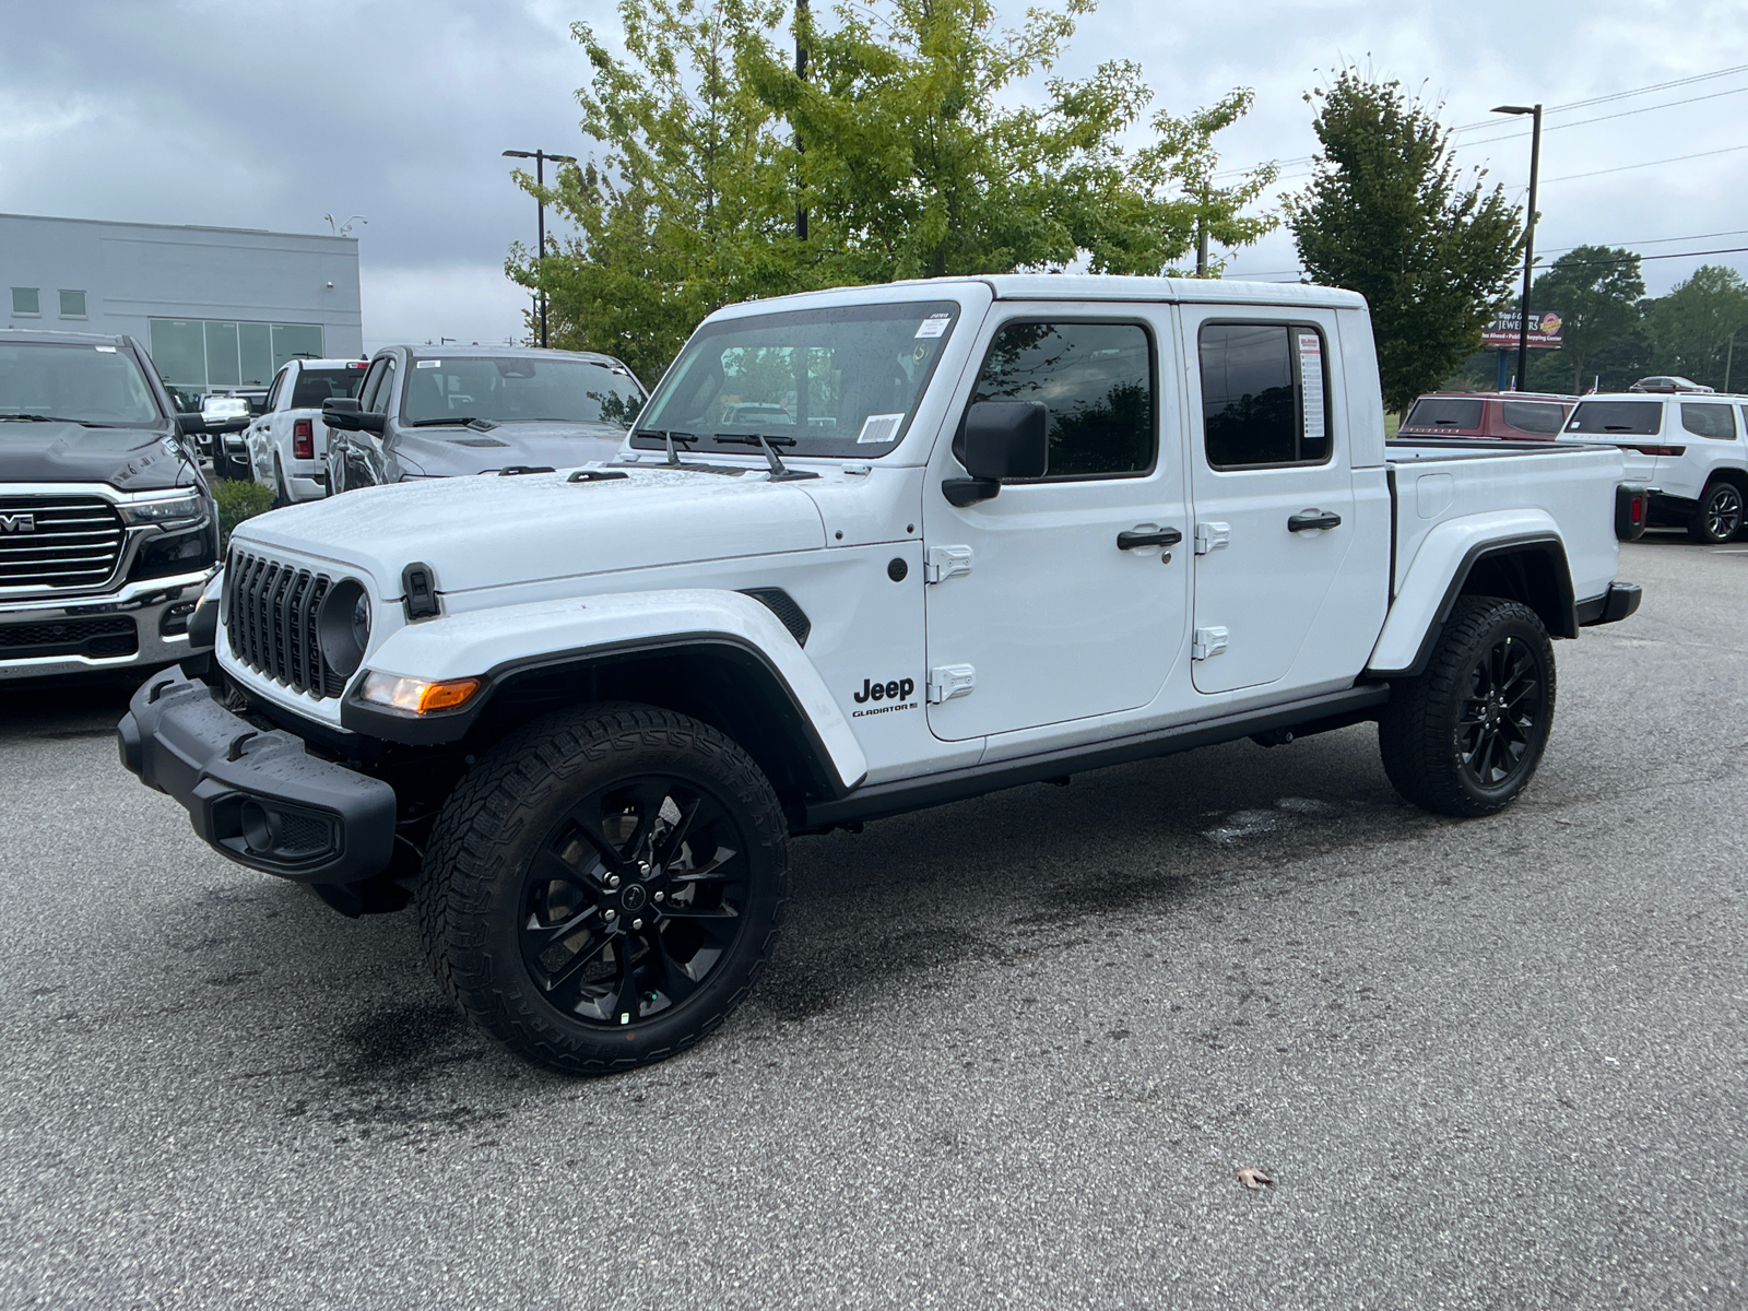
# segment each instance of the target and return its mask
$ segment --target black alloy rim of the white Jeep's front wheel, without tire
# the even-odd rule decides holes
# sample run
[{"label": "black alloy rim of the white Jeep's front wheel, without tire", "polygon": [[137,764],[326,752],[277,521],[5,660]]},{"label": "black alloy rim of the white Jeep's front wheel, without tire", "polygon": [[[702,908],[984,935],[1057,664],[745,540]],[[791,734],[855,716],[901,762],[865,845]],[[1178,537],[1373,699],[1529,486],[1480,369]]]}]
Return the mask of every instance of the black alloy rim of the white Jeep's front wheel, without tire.
[{"label": "black alloy rim of the white Jeep's front wheel, without tire", "polygon": [[579,801],[523,881],[521,947],[547,1005],[624,1028],[683,1007],[745,932],[746,836],[706,788],[633,778]]}]

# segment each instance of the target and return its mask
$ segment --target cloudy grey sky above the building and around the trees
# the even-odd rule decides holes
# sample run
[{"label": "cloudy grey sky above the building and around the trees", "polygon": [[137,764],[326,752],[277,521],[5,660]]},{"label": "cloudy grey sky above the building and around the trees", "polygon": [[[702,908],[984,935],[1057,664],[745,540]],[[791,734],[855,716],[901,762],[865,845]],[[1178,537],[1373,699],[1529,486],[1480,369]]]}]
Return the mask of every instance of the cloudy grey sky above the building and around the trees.
[{"label": "cloudy grey sky above the building and around the trees", "polygon": [[[589,149],[568,24],[615,28],[607,0],[0,0],[0,212],[294,232],[367,215],[355,232],[371,346],[521,332],[503,255],[535,215],[500,152]],[[1255,87],[1225,157],[1283,161],[1283,187],[1304,184],[1290,161],[1314,149],[1302,94],[1346,59],[1425,86],[1454,126],[1507,101],[1703,79],[1547,117],[1538,248],[1661,255],[1748,246],[1743,19],[1739,0],[1105,0],[1063,72],[1140,59],[1175,112]],[[1720,70],[1739,72],[1703,77]],[[1463,163],[1526,182],[1526,126],[1458,140]],[[1647,283],[1664,292],[1701,262],[1748,269],[1745,253],[1657,259]],[[1294,269],[1278,232],[1229,276]]]}]

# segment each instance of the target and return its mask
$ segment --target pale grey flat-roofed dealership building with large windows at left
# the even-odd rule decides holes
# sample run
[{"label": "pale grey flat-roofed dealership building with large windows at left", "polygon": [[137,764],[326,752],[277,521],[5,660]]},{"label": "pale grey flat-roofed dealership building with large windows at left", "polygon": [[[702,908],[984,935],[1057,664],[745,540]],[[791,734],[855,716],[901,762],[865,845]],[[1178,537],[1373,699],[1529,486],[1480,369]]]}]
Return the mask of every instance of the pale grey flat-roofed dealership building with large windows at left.
[{"label": "pale grey flat-roofed dealership building with large windows at left", "polygon": [[364,351],[358,241],[0,213],[0,325],[131,334],[184,395]]}]

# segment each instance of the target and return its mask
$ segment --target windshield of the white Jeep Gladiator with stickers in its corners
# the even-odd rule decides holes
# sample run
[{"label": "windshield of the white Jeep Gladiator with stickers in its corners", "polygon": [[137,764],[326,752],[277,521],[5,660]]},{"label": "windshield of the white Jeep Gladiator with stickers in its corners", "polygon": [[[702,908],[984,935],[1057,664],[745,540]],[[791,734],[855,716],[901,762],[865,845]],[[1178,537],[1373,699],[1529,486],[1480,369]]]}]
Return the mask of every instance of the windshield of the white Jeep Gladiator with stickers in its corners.
[{"label": "windshield of the white Jeep Gladiator with stickers in its corners", "polygon": [[[631,444],[692,449],[760,434],[794,454],[869,458],[904,437],[953,332],[954,301],[799,309],[701,327]],[[729,440],[724,440],[727,437]]]}]

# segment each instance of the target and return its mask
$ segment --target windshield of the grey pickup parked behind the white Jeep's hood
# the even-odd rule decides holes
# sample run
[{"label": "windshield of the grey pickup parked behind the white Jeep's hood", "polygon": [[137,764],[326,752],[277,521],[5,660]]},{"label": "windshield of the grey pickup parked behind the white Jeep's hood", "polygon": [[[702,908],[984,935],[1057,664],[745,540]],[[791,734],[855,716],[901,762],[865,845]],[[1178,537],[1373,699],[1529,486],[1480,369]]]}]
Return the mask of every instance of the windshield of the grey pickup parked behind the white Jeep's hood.
[{"label": "windshield of the grey pickup parked behind the white Jeep's hood", "polygon": [[414,360],[400,416],[407,423],[608,423],[629,428],[643,390],[622,364],[503,357]]}]

